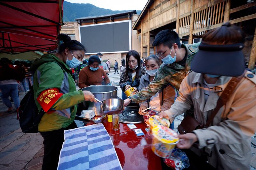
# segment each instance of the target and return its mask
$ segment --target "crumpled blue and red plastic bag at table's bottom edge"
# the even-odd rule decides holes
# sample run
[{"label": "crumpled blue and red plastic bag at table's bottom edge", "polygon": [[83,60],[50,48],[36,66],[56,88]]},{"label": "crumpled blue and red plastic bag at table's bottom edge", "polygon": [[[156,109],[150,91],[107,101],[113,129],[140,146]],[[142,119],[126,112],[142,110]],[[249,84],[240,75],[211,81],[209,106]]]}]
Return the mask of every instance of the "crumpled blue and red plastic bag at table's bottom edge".
[{"label": "crumpled blue and red plastic bag at table's bottom edge", "polygon": [[172,150],[172,154],[164,159],[164,163],[175,170],[182,170],[190,166],[186,153],[178,148]]}]

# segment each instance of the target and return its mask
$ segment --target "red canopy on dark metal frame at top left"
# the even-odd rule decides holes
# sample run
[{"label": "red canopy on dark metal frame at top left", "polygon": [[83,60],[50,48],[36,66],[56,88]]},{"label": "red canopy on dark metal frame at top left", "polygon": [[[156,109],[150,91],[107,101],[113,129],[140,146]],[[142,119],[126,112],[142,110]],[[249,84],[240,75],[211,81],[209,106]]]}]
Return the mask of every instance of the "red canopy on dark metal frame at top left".
[{"label": "red canopy on dark metal frame at top left", "polygon": [[0,52],[49,51],[56,48],[63,0],[0,2]]}]

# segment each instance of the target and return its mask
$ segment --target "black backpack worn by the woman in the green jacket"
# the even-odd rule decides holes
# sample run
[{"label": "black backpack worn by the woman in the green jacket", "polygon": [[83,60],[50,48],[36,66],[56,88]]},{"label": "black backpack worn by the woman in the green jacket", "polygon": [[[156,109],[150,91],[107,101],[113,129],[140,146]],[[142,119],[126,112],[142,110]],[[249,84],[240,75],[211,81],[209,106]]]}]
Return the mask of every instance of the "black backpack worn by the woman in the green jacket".
[{"label": "black backpack worn by the woman in the green jacket", "polygon": [[38,123],[44,115],[43,108],[38,113],[36,102],[34,99],[33,86],[29,92],[24,96],[20,102],[20,107],[18,108],[17,117],[20,121],[20,128],[24,133],[37,133]]}]

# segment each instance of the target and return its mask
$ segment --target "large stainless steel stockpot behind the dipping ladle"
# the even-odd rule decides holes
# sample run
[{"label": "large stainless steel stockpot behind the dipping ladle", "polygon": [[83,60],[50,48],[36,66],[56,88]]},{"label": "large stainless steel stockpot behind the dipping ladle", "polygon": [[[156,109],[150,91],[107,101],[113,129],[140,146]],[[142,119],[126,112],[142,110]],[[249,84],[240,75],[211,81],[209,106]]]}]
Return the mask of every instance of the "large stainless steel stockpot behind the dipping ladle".
[{"label": "large stainless steel stockpot behind the dipping ladle", "polygon": [[[117,89],[116,86],[111,85],[91,85],[89,87],[84,87],[82,90],[92,92],[95,98],[103,101],[106,99],[117,98]],[[83,106],[84,110],[94,110],[96,116],[104,115],[102,104],[100,102],[84,101]]]}]

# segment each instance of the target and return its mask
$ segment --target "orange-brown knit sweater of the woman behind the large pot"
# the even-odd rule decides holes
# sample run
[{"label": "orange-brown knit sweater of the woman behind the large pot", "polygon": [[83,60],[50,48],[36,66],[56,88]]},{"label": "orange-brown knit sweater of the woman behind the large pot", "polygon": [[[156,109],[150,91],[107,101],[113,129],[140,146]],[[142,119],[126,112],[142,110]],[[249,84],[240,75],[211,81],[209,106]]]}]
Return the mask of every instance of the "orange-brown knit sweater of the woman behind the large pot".
[{"label": "orange-brown knit sweater of the woman behind the large pot", "polygon": [[[104,76],[104,79],[102,76]],[[106,85],[110,83],[106,72],[102,68],[92,71],[89,66],[86,66],[79,72],[78,78],[78,86],[81,89],[90,85],[102,85],[103,80]]]}]

